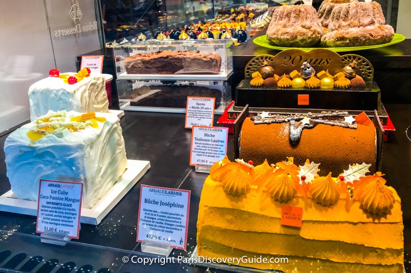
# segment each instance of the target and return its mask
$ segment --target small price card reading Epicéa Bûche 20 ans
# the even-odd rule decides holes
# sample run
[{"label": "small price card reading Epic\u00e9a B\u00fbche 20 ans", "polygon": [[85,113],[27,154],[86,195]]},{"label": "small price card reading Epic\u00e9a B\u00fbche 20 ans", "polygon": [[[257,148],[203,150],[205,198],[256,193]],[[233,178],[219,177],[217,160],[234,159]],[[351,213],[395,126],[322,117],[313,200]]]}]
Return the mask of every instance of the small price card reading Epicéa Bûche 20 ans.
[{"label": "small price card reading Epic\u00e9a B\u00fbche 20 ans", "polygon": [[187,97],[185,128],[213,126],[215,98]]}]

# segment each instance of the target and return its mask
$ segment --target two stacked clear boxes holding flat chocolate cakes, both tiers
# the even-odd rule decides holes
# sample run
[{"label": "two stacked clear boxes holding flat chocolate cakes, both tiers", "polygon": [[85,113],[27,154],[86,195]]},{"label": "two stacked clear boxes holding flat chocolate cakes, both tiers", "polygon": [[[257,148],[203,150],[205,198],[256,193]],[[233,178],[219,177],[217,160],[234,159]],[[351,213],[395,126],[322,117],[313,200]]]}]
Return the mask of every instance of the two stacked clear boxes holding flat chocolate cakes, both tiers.
[{"label": "two stacked clear boxes holding flat chocolate cakes, both tiers", "polygon": [[231,40],[146,40],[114,47],[120,108],[184,112],[187,96],[231,100]]}]

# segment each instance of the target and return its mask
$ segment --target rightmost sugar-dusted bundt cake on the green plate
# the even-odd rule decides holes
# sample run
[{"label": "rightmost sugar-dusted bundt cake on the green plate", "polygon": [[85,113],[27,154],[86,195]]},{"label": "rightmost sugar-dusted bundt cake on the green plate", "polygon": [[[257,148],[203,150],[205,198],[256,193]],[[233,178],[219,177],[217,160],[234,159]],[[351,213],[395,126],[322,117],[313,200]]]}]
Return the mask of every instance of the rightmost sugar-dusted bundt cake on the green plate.
[{"label": "rightmost sugar-dusted bundt cake on the green plate", "polygon": [[334,7],[321,41],[328,47],[371,46],[389,43],[393,37],[394,29],[385,25],[380,4],[353,2]]}]

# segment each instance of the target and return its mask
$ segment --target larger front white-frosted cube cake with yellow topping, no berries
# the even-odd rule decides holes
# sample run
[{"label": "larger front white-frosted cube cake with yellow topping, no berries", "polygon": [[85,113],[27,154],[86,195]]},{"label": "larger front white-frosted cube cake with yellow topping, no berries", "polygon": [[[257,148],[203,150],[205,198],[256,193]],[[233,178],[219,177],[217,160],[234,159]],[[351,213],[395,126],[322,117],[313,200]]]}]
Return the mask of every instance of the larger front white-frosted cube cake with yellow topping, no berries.
[{"label": "larger front white-frosted cube cake with yellow topping, no berries", "polygon": [[14,195],[36,201],[40,179],[83,182],[82,206],[94,206],[126,168],[119,119],[109,113],[53,112],[12,132],[4,144]]}]

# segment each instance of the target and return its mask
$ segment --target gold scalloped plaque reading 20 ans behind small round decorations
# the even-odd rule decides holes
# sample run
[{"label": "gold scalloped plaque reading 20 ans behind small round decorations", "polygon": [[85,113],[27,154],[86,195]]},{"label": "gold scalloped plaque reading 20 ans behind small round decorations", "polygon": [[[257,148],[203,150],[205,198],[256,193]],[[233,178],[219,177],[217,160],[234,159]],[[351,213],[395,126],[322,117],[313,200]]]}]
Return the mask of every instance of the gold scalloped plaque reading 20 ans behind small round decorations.
[{"label": "gold scalloped plaque reading 20 ans behind small round decorations", "polygon": [[251,74],[259,71],[261,67],[263,67],[264,61],[268,61],[274,68],[275,74],[281,76],[283,74],[290,74],[293,70],[300,71],[305,61],[308,62],[317,73],[328,69],[330,74],[335,75],[341,72],[341,69],[353,60],[358,63],[358,74],[365,81],[372,81],[374,68],[366,58],[356,54],[340,56],[338,53],[328,49],[314,49],[308,52],[300,49],[287,49],[279,52],[275,56],[256,56],[248,62],[245,69],[245,78],[252,78]]}]

